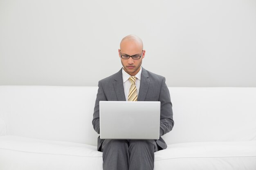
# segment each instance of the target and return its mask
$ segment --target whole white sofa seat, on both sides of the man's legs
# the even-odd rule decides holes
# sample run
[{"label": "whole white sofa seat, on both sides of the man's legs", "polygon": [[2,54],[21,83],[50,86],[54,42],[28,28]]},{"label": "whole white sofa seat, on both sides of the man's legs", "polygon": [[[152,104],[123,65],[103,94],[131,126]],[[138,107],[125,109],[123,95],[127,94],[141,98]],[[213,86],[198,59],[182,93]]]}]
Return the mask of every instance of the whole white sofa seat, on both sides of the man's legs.
[{"label": "whole white sofa seat, on both sides of the man's legs", "polygon": [[[95,146],[19,136],[0,136],[0,169],[102,170]],[[155,152],[155,170],[255,170],[256,141],[168,145]]]}]

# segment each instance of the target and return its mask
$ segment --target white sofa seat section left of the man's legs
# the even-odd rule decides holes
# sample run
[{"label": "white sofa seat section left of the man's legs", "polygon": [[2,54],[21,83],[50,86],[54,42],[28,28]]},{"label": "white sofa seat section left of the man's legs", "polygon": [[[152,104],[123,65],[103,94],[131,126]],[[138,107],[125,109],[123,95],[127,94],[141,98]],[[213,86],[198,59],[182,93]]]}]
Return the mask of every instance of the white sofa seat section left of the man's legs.
[{"label": "white sofa seat section left of the man's legs", "polygon": [[0,136],[1,170],[102,170],[96,146],[19,136]]}]

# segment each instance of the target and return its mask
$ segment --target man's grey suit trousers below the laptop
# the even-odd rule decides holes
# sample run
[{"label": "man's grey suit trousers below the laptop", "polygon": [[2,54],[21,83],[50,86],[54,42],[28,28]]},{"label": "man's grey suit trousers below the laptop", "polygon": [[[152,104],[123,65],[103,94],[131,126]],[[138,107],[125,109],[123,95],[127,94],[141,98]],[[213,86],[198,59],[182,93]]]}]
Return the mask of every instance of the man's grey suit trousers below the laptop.
[{"label": "man's grey suit trousers below the laptop", "polygon": [[103,170],[153,170],[155,140],[114,140],[102,143]]}]

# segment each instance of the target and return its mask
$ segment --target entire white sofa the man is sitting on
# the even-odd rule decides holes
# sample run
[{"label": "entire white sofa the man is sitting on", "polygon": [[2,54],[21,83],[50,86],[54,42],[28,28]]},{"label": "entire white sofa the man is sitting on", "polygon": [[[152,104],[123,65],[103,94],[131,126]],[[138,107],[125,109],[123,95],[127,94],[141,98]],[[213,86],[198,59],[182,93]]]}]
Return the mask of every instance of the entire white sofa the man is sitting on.
[{"label": "entire white sofa the man is sitting on", "polygon": [[[155,170],[256,170],[256,88],[170,87]],[[0,170],[102,170],[97,87],[0,86]]]}]

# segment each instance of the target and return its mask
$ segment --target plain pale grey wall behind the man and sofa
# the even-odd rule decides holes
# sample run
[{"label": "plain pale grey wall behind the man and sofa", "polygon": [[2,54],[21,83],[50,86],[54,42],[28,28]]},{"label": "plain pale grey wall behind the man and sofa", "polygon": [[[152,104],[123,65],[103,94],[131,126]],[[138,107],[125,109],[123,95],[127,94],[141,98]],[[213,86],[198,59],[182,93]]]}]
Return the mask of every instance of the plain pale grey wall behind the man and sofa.
[{"label": "plain pale grey wall behind the man and sofa", "polygon": [[129,34],[167,86],[256,87],[256,0],[0,0],[0,85],[97,86]]}]

